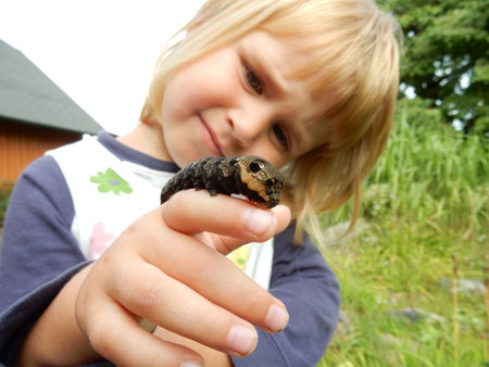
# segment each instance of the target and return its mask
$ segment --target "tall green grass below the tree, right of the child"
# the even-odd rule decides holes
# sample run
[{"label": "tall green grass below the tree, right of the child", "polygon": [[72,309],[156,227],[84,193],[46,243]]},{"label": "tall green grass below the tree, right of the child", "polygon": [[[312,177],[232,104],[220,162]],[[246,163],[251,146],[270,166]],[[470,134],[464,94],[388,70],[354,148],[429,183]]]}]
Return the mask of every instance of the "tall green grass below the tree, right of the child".
[{"label": "tall green grass below the tree, right of the child", "polygon": [[[439,284],[489,277],[488,142],[413,103],[400,103],[386,153],[365,185],[355,235],[325,253],[353,332],[336,336],[318,366],[489,364],[484,295],[453,295]],[[347,207],[322,220],[327,227],[348,214]],[[439,317],[391,316],[406,307]]]}]

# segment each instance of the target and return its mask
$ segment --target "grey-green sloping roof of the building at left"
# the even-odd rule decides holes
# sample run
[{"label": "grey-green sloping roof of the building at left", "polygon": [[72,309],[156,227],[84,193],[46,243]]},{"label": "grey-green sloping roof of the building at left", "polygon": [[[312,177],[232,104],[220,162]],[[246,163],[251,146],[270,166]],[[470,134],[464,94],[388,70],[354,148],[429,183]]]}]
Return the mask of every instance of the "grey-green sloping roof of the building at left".
[{"label": "grey-green sloping roof of the building at left", "polygon": [[0,118],[74,132],[102,127],[21,51],[0,39]]}]

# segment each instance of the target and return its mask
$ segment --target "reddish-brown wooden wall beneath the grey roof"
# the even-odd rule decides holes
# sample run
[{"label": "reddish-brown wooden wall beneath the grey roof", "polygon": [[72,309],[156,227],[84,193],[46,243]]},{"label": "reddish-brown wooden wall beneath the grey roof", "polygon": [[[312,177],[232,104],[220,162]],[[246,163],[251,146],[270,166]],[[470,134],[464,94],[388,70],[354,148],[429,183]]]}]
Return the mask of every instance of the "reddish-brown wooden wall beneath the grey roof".
[{"label": "reddish-brown wooden wall beneath the grey roof", "polygon": [[25,166],[47,150],[80,138],[78,132],[0,119],[0,180],[15,181]]}]

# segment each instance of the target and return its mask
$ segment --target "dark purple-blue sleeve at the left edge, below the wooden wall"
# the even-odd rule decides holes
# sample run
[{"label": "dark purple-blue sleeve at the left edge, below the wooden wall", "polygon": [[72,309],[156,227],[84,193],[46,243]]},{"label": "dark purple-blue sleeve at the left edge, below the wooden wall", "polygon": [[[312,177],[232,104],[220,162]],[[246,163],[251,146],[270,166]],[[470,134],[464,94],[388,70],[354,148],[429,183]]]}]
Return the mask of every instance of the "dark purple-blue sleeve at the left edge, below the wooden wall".
[{"label": "dark purple-blue sleeve at the left edge, below the wooden wall", "polygon": [[10,199],[0,253],[0,363],[20,343],[60,289],[87,261],[71,233],[65,179],[51,156],[33,162]]}]

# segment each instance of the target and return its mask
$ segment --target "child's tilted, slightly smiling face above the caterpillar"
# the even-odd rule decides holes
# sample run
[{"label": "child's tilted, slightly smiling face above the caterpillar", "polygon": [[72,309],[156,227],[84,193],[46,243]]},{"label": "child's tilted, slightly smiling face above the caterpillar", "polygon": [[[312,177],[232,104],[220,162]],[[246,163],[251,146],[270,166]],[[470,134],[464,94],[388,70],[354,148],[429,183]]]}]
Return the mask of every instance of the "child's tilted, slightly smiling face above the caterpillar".
[{"label": "child's tilted, slightly smiling face above the caterpillar", "polygon": [[170,157],[179,166],[204,156],[259,155],[276,166],[324,143],[308,84],[288,77],[304,55],[253,31],[176,73],[162,100]]}]

